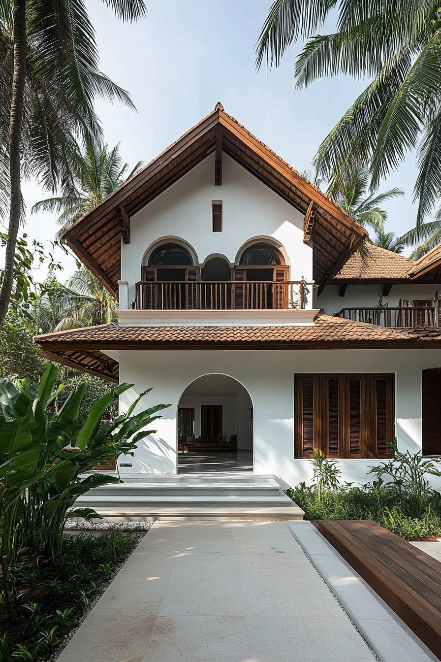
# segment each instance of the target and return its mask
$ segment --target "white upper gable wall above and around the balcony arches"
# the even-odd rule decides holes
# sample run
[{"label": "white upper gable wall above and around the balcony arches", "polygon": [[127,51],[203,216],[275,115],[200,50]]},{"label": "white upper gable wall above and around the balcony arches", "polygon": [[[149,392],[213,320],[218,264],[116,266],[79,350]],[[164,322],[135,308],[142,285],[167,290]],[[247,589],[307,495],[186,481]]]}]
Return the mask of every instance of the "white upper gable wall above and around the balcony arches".
[{"label": "white upper gable wall above and around the balcony arches", "polygon": [[[212,232],[212,201],[223,204],[223,231]],[[202,265],[208,256],[234,263],[237,252],[253,237],[273,238],[284,248],[291,279],[312,278],[312,248],[303,244],[303,216],[223,154],[222,185],[214,186],[214,154],[194,167],[167,191],[132,216],[131,242],[121,246],[121,279],[128,281],[129,302],[141,263],[160,238],[181,238]]]}]

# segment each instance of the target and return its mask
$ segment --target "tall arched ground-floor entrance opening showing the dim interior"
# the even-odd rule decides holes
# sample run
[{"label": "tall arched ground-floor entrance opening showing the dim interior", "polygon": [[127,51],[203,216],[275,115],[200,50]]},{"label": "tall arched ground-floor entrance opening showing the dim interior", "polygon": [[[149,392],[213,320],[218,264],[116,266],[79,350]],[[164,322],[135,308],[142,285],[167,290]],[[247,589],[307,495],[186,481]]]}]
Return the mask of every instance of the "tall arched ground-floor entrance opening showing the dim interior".
[{"label": "tall arched ground-floor entrance opening showing the dim interior", "polygon": [[180,397],[178,473],[253,471],[253,402],[229,375],[194,379]]}]

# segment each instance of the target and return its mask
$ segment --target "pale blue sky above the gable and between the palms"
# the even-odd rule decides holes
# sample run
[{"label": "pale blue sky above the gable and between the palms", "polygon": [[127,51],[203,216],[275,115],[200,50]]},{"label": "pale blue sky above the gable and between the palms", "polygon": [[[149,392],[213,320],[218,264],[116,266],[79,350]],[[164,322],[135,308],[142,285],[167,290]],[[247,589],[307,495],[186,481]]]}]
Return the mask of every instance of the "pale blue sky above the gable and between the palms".
[{"label": "pale blue sky above the gable and between the palms", "polygon": [[[282,66],[255,69],[254,46],[270,0],[147,0],[147,17],[123,24],[98,0],[87,7],[97,30],[101,69],[132,95],[138,112],[97,101],[104,138],[121,143],[124,160],[149,162],[221,101],[296,169],[308,169],[321,140],[362,90],[363,81],[322,79],[306,91],[294,89],[295,44]],[[405,197],[387,206],[387,228],[402,234],[414,224],[415,156],[381,188],[400,186]],[[381,189],[380,189],[381,190]],[[28,209],[41,191],[26,183]],[[30,216],[30,237],[50,240],[55,217]],[[75,264],[61,256],[67,278]]]}]

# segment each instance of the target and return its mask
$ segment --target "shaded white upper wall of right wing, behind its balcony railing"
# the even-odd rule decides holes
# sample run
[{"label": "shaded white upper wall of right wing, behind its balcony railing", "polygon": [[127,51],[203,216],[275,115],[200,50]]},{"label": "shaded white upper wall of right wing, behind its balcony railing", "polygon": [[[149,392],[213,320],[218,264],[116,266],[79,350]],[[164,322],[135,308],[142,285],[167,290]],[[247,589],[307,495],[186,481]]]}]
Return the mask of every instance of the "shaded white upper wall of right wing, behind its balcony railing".
[{"label": "shaded white upper wall of right wing, behind its balcony railing", "polygon": [[[376,307],[381,296],[382,286],[378,285],[348,285],[344,297],[339,297],[340,285],[327,285],[325,290],[317,297],[314,289],[314,308],[324,308],[325,312],[333,315],[342,308],[362,308],[364,306]],[[383,297],[383,305],[395,308],[400,299],[430,299],[434,293],[441,290],[440,285],[392,285],[387,297]]]}]

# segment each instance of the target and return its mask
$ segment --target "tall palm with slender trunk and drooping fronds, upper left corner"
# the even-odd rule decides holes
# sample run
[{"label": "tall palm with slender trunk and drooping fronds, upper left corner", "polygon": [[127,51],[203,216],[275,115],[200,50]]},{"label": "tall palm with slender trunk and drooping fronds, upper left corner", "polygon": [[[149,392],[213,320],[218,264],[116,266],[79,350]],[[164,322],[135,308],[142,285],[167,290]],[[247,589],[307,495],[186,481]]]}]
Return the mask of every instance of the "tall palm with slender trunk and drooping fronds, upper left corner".
[{"label": "tall palm with slender trunk and drooping fronds, upper left corner", "polygon": [[[123,21],[145,15],[143,0],[103,0]],[[0,213],[9,207],[0,325],[13,287],[23,214],[22,175],[55,192],[71,189],[75,137],[100,135],[95,97],[130,97],[99,70],[95,30],[81,0],[0,2]]]}]

